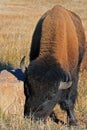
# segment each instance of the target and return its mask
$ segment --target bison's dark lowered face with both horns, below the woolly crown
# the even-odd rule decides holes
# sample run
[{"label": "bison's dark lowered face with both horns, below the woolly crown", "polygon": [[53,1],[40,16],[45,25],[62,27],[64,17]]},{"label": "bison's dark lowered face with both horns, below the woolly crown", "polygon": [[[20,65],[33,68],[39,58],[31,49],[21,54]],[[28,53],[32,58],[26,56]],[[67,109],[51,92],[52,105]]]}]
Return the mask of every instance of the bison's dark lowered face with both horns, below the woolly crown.
[{"label": "bison's dark lowered face with both horns, below the woolly crown", "polygon": [[[40,81],[38,74],[32,76],[33,69],[23,66],[22,59],[21,68],[24,72],[24,93],[26,96],[24,115],[32,115],[35,119],[46,118],[52,112],[54,106],[60,102],[63,91],[70,88],[72,85],[70,73],[66,75],[66,81],[46,82]],[[36,69],[37,71],[37,69]],[[35,72],[36,72],[35,71]]]}]

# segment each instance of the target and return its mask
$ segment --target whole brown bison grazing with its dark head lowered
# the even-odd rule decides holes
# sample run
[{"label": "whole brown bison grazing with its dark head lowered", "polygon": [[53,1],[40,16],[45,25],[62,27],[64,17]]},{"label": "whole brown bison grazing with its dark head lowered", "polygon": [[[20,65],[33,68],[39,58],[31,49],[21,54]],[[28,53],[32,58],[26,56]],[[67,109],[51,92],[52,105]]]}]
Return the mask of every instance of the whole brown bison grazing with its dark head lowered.
[{"label": "whole brown bison grazing with its dark head lowered", "polygon": [[30,64],[23,66],[26,95],[24,115],[35,119],[52,115],[56,104],[76,125],[74,106],[85,34],[79,16],[56,5],[38,21],[31,43]]}]

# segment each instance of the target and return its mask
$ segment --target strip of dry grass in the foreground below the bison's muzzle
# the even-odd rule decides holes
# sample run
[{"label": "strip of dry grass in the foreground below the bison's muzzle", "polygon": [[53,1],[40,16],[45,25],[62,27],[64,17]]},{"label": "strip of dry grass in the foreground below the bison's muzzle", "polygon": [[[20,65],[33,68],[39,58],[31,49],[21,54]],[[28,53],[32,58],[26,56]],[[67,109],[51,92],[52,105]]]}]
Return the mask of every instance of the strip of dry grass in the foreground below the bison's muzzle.
[{"label": "strip of dry grass in the foreground below the bison's muzzle", "polygon": [[45,123],[41,120],[35,122],[31,118],[25,119],[17,115],[12,115],[0,118],[0,130],[86,130],[86,126],[58,126],[52,120],[48,120]]}]

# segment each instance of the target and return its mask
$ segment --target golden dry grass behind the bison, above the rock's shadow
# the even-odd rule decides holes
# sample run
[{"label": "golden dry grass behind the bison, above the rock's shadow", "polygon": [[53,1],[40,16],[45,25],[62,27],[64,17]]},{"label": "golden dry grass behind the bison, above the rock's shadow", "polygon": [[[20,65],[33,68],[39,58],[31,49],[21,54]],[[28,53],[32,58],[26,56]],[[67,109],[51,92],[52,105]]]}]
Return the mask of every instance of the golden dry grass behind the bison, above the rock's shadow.
[{"label": "golden dry grass behind the bison, above the rock's shadow", "polygon": [[[80,1],[80,2],[79,2]],[[2,0],[0,2],[0,63],[19,67],[29,62],[32,34],[41,15],[55,4],[71,9],[82,18],[87,34],[87,4],[83,0]]]}]

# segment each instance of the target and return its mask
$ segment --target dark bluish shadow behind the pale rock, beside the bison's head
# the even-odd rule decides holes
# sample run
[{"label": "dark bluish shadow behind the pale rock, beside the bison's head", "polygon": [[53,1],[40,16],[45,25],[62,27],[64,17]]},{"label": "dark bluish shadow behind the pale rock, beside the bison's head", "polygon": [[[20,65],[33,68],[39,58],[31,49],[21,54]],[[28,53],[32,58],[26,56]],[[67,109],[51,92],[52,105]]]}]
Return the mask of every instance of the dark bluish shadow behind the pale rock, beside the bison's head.
[{"label": "dark bluish shadow behind the pale rock, beside the bison's head", "polygon": [[0,63],[0,72],[7,70],[9,73],[13,74],[18,80],[24,81],[24,74],[20,68],[14,69],[14,67],[8,63]]}]

